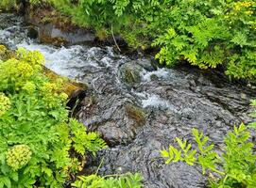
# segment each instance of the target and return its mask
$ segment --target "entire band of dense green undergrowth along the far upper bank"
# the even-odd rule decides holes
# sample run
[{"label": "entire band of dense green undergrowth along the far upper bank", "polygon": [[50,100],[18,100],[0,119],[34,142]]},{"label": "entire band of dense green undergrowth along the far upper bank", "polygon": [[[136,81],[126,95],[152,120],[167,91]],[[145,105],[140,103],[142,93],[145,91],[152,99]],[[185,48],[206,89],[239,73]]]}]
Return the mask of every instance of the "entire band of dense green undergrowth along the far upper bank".
[{"label": "entire band of dense green undergrowth along the far upper bank", "polygon": [[[8,1],[8,0],[5,0]],[[256,2],[253,0],[30,0],[49,4],[99,36],[119,33],[130,46],[160,48],[162,64],[186,60],[222,67],[230,78],[255,80]]]}]

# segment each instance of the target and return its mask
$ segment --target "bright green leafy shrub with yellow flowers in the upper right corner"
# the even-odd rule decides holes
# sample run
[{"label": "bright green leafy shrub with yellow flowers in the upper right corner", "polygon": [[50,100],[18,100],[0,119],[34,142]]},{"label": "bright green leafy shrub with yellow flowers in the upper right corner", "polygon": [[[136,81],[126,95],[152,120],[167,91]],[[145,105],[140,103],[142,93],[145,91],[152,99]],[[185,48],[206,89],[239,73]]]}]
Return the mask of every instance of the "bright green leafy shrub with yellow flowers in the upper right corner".
[{"label": "bright green leafy shrub with yellow flowers in the upper right corner", "polygon": [[[154,45],[157,58],[173,65],[180,58],[202,69],[227,66],[230,77],[255,78],[254,1],[179,1],[164,14],[173,23]],[[179,15],[178,15],[179,14]]]}]

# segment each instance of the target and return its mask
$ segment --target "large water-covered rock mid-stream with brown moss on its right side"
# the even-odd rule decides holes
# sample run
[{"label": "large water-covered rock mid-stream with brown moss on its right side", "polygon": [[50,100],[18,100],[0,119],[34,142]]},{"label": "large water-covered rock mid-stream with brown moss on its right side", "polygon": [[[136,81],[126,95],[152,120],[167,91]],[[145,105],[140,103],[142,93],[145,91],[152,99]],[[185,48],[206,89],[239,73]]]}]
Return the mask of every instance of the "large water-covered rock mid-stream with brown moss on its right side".
[{"label": "large water-covered rock mid-stream with brown moss on its right side", "polygon": [[[88,97],[85,100],[82,103],[88,103]],[[114,93],[97,95],[91,105],[82,105],[77,116],[89,130],[101,133],[110,146],[127,145],[145,122],[143,111],[133,106],[125,97]]]}]

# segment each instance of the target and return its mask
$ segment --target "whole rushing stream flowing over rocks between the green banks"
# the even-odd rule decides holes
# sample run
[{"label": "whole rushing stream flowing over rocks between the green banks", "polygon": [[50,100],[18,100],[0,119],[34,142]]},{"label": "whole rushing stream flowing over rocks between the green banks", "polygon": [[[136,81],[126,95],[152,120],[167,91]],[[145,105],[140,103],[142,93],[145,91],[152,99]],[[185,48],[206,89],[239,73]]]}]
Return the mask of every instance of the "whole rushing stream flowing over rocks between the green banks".
[{"label": "whole rushing stream flowing over rocks between the green banks", "polygon": [[120,55],[112,47],[40,44],[27,38],[26,28],[22,18],[1,14],[0,43],[39,50],[46,67],[89,85],[76,117],[110,146],[88,166],[94,169],[104,158],[102,174],[141,172],[148,188],[204,187],[197,166],[166,165],[160,149],[174,144],[177,136],[191,140],[192,128],[221,149],[234,124],[252,120],[248,103],[255,91],[230,84],[220,73],[161,69],[152,57]]}]

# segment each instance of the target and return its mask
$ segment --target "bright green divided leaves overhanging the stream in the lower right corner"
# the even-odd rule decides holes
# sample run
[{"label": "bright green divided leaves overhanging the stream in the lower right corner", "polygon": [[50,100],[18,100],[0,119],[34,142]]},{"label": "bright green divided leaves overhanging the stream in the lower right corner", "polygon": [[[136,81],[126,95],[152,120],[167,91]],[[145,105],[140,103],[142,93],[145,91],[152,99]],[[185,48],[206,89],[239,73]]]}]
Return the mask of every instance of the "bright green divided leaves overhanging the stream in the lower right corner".
[{"label": "bright green divided leaves overhanging the stream in the lower right corner", "polygon": [[[234,126],[233,132],[225,137],[225,149],[221,155],[213,151],[213,145],[207,144],[208,136],[196,129],[193,135],[196,149],[191,149],[186,140],[182,142],[177,138],[180,150],[170,146],[169,150],[161,151],[162,157],[167,159],[166,164],[184,161],[201,165],[203,174],[209,172],[212,175],[210,182],[213,188],[256,187],[256,153],[244,124]],[[220,178],[213,178],[212,173],[218,174]]]}]

